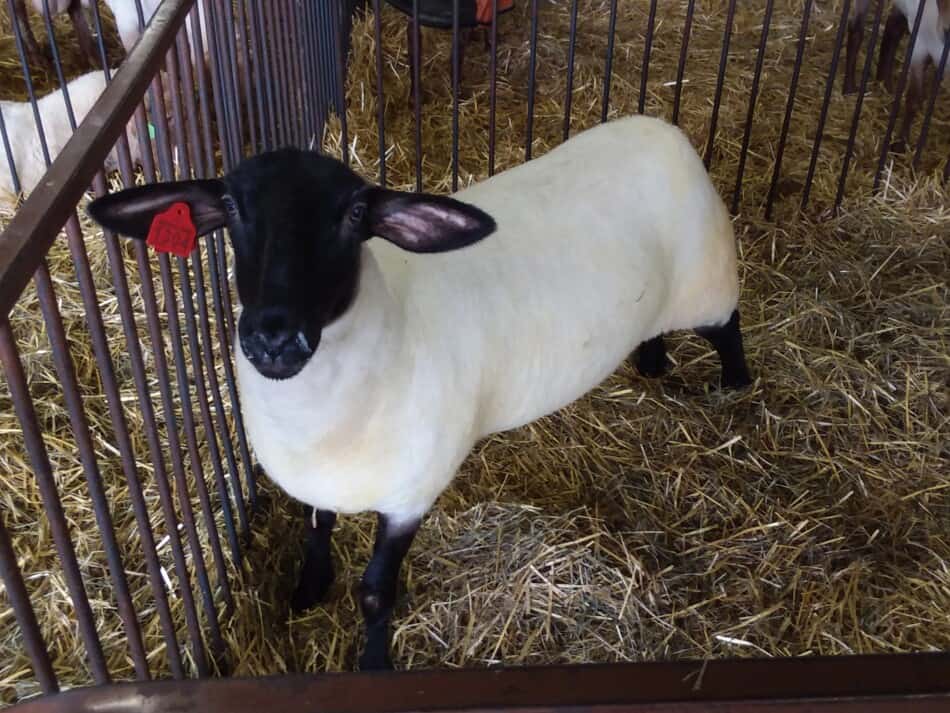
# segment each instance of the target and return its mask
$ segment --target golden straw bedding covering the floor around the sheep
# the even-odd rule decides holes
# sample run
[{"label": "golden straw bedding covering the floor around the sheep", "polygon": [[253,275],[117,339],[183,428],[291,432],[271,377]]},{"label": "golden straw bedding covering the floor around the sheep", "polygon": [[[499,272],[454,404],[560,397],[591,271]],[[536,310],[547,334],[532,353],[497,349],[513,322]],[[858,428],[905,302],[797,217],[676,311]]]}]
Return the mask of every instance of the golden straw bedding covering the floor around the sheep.
[{"label": "golden straw bedding covering the floor around the sheep", "polygon": [[[523,159],[529,3],[500,23],[498,170]],[[534,154],[560,140],[570,4],[539,3]],[[660,3],[646,110],[670,116],[681,3]],[[666,6],[668,5],[668,6]],[[675,5],[675,6],[674,6]],[[696,3],[680,123],[702,150],[716,82],[725,3]],[[647,3],[620,3],[610,115],[636,111]],[[802,3],[777,2],[768,35],[736,232],[740,308],[757,381],[715,388],[718,360],[689,335],[668,339],[675,365],[659,381],[622,366],[562,411],[480,444],[426,520],[407,560],[395,621],[401,665],[485,666],[686,657],[798,656],[950,646],[950,447],[947,377],[950,214],[937,180],[950,155],[939,101],[921,170],[888,164],[869,197],[890,95],[866,97],[848,193],[834,200],[854,98],[840,80],[809,210],[797,210],[824,93],[839,9],[813,10],[776,222],[760,218],[784,116]],[[600,118],[609,3],[582,0],[571,130]],[[762,10],[739,2],[712,174],[732,198]],[[387,172],[414,185],[413,121],[403,17],[384,15]],[[451,177],[449,36],[424,31],[424,187]],[[460,112],[461,182],[488,170],[488,65],[467,50]],[[354,27],[348,85],[352,158],[378,170],[372,18]],[[326,145],[339,151],[339,122]],[[916,130],[913,134],[916,137]],[[582,167],[578,167],[582,170]],[[84,223],[126,413],[157,537],[152,482],[108,264]],[[128,269],[135,273],[127,252]],[[85,314],[65,244],[49,256],[87,413],[151,664],[167,672],[154,603]],[[137,278],[133,299],[140,304]],[[116,677],[131,664],[32,288],[13,315],[47,432],[80,564]],[[143,346],[150,343],[140,320]],[[449,335],[451,338],[451,335]],[[167,347],[167,344],[166,344]],[[152,366],[151,359],[149,366]],[[157,401],[157,385],[152,384]],[[64,684],[88,681],[48,526],[3,395],[3,517]],[[202,441],[203,452],[207,443]],[[210,475],[206,465],[206,476]],[[210,477],[207,478],[210,480]],[[238,675],[347,670],[359,614],[353,591],[372,518],[337,526],[338,581],[325,607],[288,615],[302,508],[266,479],[236,607],[223,625]],[[202,529],[204,533],[204,530]],[[186,548],[187,550],[187,548]],[[189,559],[191,559],[190,550]],[[167,545],[162,561],[172,577]],[[210,562],[209,562],[210,566]],[[8,603],[0,599],[0,695],[35,691]],[[172,601],[179,627],[181,602]]]}]

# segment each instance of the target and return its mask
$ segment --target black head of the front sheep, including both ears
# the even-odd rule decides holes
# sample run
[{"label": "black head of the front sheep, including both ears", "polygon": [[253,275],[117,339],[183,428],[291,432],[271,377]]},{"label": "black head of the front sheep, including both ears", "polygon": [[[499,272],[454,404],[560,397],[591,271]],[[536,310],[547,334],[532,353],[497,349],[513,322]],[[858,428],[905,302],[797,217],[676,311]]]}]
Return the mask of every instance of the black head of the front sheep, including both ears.
[{"label": "black head of the front sheep, including both ears", "polygon": [[88,210],[100,225],[144,240],[154,217],[179,201],[198,235],[228,227],[241,349],[271,379],[298,374],[323,328],[352,303],[364,241],[379,236],[412,252],[444,252],[495,230],[473,206],[377,188],[335,159],[297,149],[252,157],[221,179],[130,188]]}]

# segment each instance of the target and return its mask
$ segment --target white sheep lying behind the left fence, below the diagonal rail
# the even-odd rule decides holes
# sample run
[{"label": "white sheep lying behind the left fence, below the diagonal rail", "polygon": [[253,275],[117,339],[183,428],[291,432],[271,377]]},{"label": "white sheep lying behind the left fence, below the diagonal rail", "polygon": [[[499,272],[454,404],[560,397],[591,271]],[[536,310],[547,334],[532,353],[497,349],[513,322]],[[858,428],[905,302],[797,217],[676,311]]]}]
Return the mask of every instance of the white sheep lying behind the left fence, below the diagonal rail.
[{"label": "white sheep lying behind the left fence, below the diagonal rail", "polygon": [[[78,124],[105,90],[106,80],[101,71],[88,72],[76,77],[66,86]],[[57,89],[37,99],[36,104],[43,122],[43,134],[46,138],[50,161],[53,161],[73,134],[69,116],[66,113],[65,97],[62,90]],[[13,154],[13,165],[20,182],[20,190],[29,193],[46,173],[46,160],[43,156],[40,135],[36,130],[33,107],[30,102],[0,101],[0,114],[3,115],[4,128]],[[129,151],[132,160],[138,162],[141,153],[134,121],[129,122],[128,130]],[[117,153],[113,150],[106,159],[105,167],[107,170],[113,170],[116,165]],[[13,173],[5,156],[0,158],[0,203],[7,208],[12,208],[16,203]]]}]

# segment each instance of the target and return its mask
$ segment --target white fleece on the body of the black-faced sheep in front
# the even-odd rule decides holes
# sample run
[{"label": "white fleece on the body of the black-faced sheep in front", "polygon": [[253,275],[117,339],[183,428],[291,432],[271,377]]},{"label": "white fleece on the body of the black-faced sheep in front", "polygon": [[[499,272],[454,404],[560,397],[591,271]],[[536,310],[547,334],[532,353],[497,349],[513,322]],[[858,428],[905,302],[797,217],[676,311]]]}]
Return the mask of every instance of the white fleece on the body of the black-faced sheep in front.
[{"label": "white fleece on the body of the black-faced sheep in front", "polygon": [[306,504],[408,524],[480,438],[581,397],[641,342],[736,309],[729,215],[664,121],[602,124],[455,197],[497,232],[440,254],[366,243],[354,304],[298,375],[268,380],[235,350],[252,445]]}]

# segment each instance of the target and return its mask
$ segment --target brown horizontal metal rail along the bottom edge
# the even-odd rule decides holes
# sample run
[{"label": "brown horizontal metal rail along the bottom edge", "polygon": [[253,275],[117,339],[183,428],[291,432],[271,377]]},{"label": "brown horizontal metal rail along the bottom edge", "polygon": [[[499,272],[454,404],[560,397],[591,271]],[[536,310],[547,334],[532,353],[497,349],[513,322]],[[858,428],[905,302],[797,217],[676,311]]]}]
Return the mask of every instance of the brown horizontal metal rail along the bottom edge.
[{"label": "brown horizontal metal rail along the bottom edge", "polygon": [[[119,684],[16,713],[946,713],[950,654],[303,674]],[[318,703],[315,703],[318,702]]]}]

